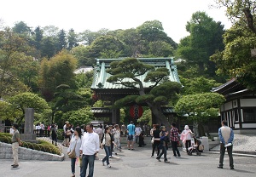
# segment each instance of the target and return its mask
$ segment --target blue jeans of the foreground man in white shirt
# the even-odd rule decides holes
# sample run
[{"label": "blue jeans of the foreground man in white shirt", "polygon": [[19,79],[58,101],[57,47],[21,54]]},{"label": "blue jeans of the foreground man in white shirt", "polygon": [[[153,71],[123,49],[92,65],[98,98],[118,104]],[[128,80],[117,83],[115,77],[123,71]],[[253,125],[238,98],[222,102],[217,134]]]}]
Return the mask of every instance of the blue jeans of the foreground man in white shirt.
[{"label": "blue jeans of the foreground man in white shirt", "polygon": [[84,155],[82,158],[82,166],[80,168],[80,177],[85,177],[87,166],[89,163],[88,177],[93,177],[95,155]]}]

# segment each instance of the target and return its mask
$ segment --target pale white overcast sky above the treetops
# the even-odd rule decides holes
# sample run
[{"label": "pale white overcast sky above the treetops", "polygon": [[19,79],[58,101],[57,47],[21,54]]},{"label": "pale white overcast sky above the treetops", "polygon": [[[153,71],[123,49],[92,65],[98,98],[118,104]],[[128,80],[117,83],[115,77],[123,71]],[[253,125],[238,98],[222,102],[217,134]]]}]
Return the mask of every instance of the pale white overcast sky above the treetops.
[{"label": "pale white overcast sky above the treetops", "polygon": [[189,35],[185,26],[196,11],[205,11],[225,29],[231,26],[224,9],[209,8],[216,5],[214,0],[3,0],[0,4],[4,26],[22,20],[33,29],[52,25],[81,32],[136,28],[147,20],[160,20],[176,43]]}]

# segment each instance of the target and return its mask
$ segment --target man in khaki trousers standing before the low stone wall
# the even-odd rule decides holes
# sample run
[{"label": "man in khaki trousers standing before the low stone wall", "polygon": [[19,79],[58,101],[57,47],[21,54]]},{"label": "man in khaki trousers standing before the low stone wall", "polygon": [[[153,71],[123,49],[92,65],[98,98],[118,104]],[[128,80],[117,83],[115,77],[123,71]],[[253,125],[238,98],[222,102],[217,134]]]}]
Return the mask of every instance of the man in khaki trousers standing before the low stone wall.
[{"label": "man in khaki trousers standing before the low stone wall", "polygon": [[14,156],[14,164],[12,164],[11,166],[13,168],[17,168],[19,167],[19,163],[18,163],[18,149],[19,146],[22,145],[22,142],[20,140],[20,133],[18,131],[19,126],[17,124],[13,124],[12,128],[15,130],[13,137],[12,137],[12,150],[13,150],[13,156]]}]

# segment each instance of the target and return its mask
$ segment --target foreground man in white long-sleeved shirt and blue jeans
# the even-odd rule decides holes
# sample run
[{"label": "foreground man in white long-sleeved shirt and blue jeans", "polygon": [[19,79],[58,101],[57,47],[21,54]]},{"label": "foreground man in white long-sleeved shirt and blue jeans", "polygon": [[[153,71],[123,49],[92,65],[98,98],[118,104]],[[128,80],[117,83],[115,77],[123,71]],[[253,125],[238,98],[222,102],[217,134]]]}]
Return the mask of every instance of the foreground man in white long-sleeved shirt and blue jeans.
[{"label": "foreground man in white long-sleeved shirt and blue jeans", "polygon": [[93,177],[94,161],[96,154],[100,149],[99,135],[93,132],[93,125],[86,125],[87,133],[84,133],[80,154],[83,154],[82,166],[80,167],[80,177],[85,177],[87,166],[89,164],[88,177]]}]

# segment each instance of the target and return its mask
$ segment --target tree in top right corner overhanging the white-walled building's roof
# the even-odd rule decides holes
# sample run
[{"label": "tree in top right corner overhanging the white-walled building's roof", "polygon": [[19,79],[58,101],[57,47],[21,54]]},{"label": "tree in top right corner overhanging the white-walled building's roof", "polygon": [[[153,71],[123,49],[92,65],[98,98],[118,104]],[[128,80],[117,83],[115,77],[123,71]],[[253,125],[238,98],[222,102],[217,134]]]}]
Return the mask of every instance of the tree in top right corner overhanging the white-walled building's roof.
[{"label": "tree in top right corner overhanging the white-walled building's roof", "polygon": [[227,16],[233,26],[224,34],[224,51],[212,55],[219,74],[235,77],[248,89],[256,89],[255,1],[216,1],[227,8]]}]

